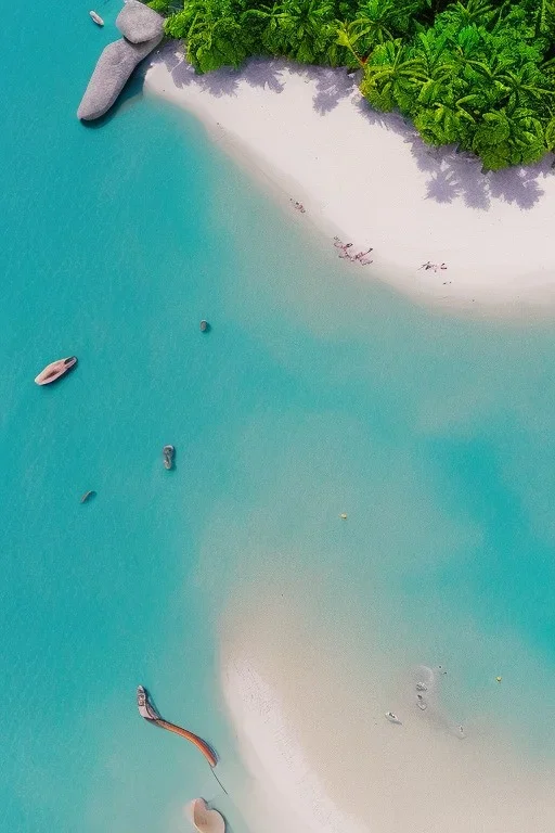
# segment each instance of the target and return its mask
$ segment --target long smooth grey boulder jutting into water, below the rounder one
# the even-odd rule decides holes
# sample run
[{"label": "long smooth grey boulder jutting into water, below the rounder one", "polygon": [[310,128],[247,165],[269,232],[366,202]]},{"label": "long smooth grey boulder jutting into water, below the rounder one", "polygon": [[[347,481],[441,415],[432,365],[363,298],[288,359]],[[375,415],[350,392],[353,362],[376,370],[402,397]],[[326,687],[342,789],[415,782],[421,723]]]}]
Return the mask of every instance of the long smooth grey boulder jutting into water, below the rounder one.
[{"label": "long smooth grey boulder jutting into water, below the rounder one", "polygon": [[162,37],[160,31],[145,43],[129,43],[125,38],[108,43],[99,57],[85,90],[85,95],[77,110],[77,117],[83,121],[91,121],[107,113],[111,106],[115,104],[135,66],[158,46]]}]

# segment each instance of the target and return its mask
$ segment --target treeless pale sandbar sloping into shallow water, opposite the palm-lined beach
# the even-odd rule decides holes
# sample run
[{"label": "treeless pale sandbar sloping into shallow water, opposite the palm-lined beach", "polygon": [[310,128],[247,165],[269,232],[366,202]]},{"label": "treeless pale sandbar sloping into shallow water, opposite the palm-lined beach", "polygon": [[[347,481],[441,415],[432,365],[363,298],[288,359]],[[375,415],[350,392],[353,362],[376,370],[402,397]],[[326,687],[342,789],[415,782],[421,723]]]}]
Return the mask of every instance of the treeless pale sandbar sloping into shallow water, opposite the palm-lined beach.
[{"label": "treeless pale sandbar sloping into shallow water, opposite the palm-lined beach", "polygon": [[[237,804],[253,831],[553,830],[547,771],[488,725],[470,721],[457,736],[459,726],[417,708],[414,677],[403,691],[384,658],[358,667],[302,608],[266,598],[243,624],[227,623],[222,641],[224,700],[251,776]],[[385,718],[388,707],[402,725]]]}]

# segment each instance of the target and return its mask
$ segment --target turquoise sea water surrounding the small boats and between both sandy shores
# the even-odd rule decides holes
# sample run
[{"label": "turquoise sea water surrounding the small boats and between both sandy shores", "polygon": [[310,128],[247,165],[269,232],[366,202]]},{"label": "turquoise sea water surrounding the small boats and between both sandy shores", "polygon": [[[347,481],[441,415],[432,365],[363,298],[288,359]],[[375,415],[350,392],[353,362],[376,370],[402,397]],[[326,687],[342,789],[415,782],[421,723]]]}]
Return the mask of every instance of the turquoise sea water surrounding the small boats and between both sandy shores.
[{"label": "turquoise sea water surrounding the small boats and between both sandy shores", "polygon": [[118,4],[103,30],[80,1],[1,5],[0,829],[173,833],[218,795],[139,719],[140,682],[238,783],[218,630],[268,572],[333,586],[353,640],[447,663],[460,703],[552,767],[553,323],[371,284],[138,84],[83,127]]}]

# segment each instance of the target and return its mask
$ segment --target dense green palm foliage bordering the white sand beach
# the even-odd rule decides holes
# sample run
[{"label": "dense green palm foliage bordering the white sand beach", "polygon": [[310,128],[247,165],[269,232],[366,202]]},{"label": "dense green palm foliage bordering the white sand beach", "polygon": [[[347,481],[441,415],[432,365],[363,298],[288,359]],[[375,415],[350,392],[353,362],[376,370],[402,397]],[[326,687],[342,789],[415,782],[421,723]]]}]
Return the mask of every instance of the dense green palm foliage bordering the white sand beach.
[{"label": "dense green palm foliage bordering the white sand beach", "polygon": [[[555,150],[555,0],[153,0],[201,73],[251,55],[360,69],[362,94],[486,169]],[[179,5],[179,8],[177,8]]]}]

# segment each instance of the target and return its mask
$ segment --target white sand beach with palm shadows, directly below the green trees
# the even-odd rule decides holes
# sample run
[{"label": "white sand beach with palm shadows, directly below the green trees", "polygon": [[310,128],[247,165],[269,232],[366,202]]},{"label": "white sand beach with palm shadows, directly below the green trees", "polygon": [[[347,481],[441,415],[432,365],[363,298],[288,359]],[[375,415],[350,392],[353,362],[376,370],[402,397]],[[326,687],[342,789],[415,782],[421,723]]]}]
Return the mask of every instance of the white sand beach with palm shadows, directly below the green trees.
[{"label": "white sand beach with palm shadows, directly below the green trees", "polygon": [[351,252],[373,247],[371,265],[345,260],[345,269],[440,307],[553,310],[552,155],[483,175],[477,159],[427,148],[398,115],[374,112],[343,69],[259,60],[199,76],[169,44],[144,89],[198,117],[330,245],[337,234]]}]

